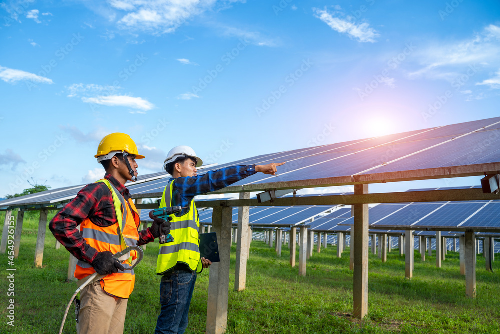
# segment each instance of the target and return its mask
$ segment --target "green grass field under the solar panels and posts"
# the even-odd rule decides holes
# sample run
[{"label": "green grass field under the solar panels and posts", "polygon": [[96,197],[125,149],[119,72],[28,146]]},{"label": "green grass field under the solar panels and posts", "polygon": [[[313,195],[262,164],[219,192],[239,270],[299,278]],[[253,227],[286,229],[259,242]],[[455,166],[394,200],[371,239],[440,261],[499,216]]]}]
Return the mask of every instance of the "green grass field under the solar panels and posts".
[{"label": "green grass field under the solar panels and posts", "polygon": [[[49,215],[49,218],[53,216]],[[0,219],[3,222],[2,215]],[[38,213],[26,214],[19,257],[15,260],[15,296],[8,297],[7,255],[1,254],[1,333],[58,332],[76,283],[66,282],[69,253],[55,249],[47,228],[43,267],[34,266]],[[152,333],[159,314],[159,281],[155,274],[157,242],[147,246],[136,268],[135,290],[128,303],[125,332]],[[382,263],[370,254],[368,315],[352,319],[352,271],[348,249],[336,258],[328,246],[307,262],[307,275],[288,264],[288,250],[278,258],[273,249],[253,241],[246,290],[235,292],[236,245],[231,249],[227,333],[500,333],[500,264],[486,272],[477,257],[477,298],[465,297],[465,277],[458,253],[448,252],[442,268],[435,257],[420,260],[415,252],[411,280],[404,278],[404,257],[388,253]],[[298,254],[297,254],[298,261]],[[205,330],[208,270],[198,275],[187,333]],[[15,299],[15,326],[7,325],[8,299]],[[64,332],[76,332],[72,306]]]}]

